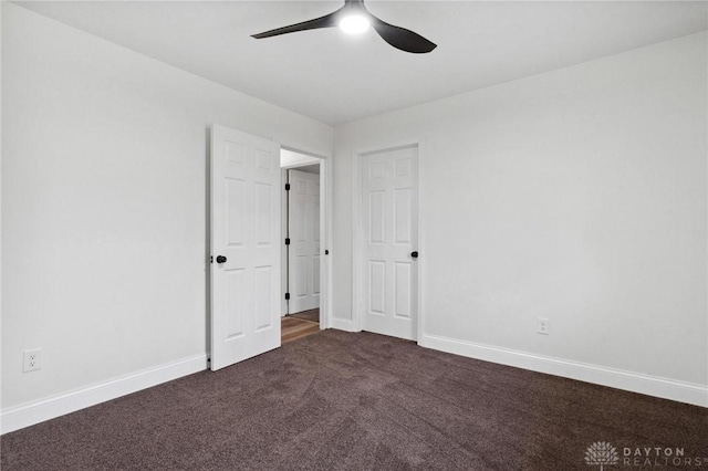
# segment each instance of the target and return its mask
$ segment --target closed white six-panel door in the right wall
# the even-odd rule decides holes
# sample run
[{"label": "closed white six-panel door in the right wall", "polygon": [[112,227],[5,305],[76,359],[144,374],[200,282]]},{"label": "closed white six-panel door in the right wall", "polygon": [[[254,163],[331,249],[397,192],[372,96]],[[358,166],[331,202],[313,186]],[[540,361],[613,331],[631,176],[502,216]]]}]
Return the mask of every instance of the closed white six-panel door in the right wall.
[{"label": "closed white six-panel door in the right wall", "polygon": [[417,338],[417,146],[362,156],[364,331]]}]

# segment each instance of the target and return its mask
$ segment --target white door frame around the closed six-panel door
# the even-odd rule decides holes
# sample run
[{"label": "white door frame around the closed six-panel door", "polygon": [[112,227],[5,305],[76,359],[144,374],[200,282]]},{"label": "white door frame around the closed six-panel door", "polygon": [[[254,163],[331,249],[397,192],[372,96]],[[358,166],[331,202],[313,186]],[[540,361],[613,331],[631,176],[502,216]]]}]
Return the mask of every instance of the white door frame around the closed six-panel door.
[{"label": "white door frame around the closed six-panel door", "polygon": [[362,196],[363,196],[363,190],[362,190],[363,181],[361,176],[362,167],[363,167],[362,160],[364,156],[367,154],[383,153],[386,150],[394,150],[400,147],[417,147],[418,149],[418,171],[415,179],[416,207],[418,208],[418,224],[416,229],[418,231],[417,251],[423,253],[423,255],[416,260],[417,270],[418,270],[418,276],[417,276],[418,284],[416,286],[416,303],[417,303],[417,313],[418,313],[418,317],[416,320],[416,323],[418,325],[416,343],[420,344],[420,341],[423,338],[423,333],[424,333],[424,326],[425,326],[423,274],[425,273],[424,266],[425,266],[425,255],[426,255],[425,244],[424,244],[424,231],[423,231],[424,214],[423,214],[423,208],[420,205],[420,201],[424,200],[424,198],[421,198],[423,179],[420,178],[420,175],[423,174],[423,163],[424,163],[421,139],[406,139],[406,140],[398,140],[389,144],[384,144],[384,145],[368,146],[368,147],[356,149],[353,153],[352,188],[354,191],[352,192],[353,192],[354,200],[352,201],[352,229],[353,229],[352,231],[352,331],[362,332],[364,326],[364,316],[361,311],[362,304],[363,304],[363,301],[362,301],[363,289],[361,285],[363,280],[362,238],[364,237],[364,231],[362,229],[362,217],[364,216],[363,208],[362,208]]}]

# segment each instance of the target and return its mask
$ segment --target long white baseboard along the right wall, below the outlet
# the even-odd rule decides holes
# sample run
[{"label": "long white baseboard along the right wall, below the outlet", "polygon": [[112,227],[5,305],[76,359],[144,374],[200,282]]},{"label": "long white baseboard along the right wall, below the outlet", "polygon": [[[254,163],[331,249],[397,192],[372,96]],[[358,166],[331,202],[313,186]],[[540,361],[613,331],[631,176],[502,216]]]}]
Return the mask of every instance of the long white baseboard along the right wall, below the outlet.
[{"label": "long white baseboard along the right wall, below the outlet", "polygon": [[705,385],[605,368],[429,334],[424,334],[418,345],[485,362],[708,407],[708,387]]}]

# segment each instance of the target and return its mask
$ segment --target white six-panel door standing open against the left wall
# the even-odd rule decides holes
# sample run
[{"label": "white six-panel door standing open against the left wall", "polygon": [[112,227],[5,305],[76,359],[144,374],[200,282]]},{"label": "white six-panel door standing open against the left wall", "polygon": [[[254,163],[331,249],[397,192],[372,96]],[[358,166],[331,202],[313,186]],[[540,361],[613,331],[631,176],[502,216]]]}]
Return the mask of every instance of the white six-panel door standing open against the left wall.
[{"label": "white six-panel door standing open against the left wall", "polygon": [[280,346],[280,146],[211,128],[211,369]]}]

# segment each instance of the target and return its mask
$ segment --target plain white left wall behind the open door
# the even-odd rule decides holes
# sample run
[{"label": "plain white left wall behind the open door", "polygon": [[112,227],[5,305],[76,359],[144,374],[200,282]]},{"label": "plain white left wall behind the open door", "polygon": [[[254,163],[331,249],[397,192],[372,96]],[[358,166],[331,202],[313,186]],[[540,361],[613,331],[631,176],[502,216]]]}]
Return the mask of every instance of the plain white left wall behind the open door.
[{"label": "plain white left wall behind the open door", "polygon": [[208,127],[322,155],[332,128],[2,8],[3,411],[206,358]]}]

